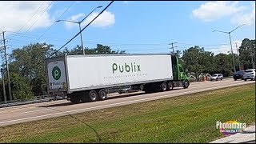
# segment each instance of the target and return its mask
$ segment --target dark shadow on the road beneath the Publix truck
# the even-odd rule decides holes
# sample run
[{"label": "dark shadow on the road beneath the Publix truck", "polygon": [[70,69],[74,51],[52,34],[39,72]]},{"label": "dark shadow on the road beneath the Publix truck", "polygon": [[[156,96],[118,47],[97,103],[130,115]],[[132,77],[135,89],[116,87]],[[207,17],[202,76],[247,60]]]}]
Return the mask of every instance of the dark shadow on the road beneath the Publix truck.
[{"label": "dark shadow on the road beneath the Publix truck", "polygon": [[[174,89],[174,90],[179,90],[179,89]],[[171,90],[171,91],[174,91]],[[151,94],[158,94],[158,93],[163,93],[165,94],[166,92],[157,92],[157,93],[151,93]],[[106,100],[109,99],[116,99],[116,98],[127,98],[127,97],[134,97],[134,96],[138,96],[138,95],[145,95],[145,92],[139,92],[139,93],[131,93],[131,94],[120,94],[120,95],[114,95],[114,96],[110,96],[107,97]],[[102,101],[98,101],[98,102],[102,102]],[[91,102],[80,102],[78,104],[84,104],[84,103],[91,103]],[[74,104],[72,102],[65,102],[65,103],[58,103],[58,104],[53,104],[53,105],[48,105],[48,106],[38,106],[38,107],[58,107],[58,106],[70,106],[70,105],[78,105],[78,104]]]}]

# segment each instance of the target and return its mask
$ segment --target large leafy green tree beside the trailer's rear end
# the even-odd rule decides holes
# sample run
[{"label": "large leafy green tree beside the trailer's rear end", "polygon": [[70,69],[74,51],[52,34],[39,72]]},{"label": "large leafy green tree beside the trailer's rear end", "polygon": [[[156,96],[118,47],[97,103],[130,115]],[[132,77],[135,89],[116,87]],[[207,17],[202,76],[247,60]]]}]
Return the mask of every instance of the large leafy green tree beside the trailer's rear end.
[{"label": "large leafy green tree beside the trailer's rear end", "polygon": [[[10,78],[20,77],[30,82],[30,87],[34,95],[41,95],[46,90],[46,69],[45,58],[54,54],[53,45],[46,43],[35,43],[23,46],[22,49],[15,49],[10,54]],[[59,55],[56,53],[55,55]],[[22,80],[19,78],[18,80]],[[17,81],[16,81],[17,83]],[[16,85],[14,85],[16,86]],[[16,93],[14,89],[13,93]],[[22,90],[22,89],[21,89]],[[26,91],[20,91],[24,93]],[[28,94],[28,92],[26,92]]]}]

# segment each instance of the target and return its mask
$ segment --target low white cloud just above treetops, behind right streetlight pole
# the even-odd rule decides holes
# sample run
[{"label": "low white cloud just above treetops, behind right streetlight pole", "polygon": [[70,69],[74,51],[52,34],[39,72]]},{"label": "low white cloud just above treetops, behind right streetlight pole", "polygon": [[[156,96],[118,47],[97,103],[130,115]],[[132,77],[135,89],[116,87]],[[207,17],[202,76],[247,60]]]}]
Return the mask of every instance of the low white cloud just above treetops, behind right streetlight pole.
[{"label": "low white cloud just above treetops, behind right streetlight pole", "polygon": [[[237,48],[239,49],[239,46],[241,46],[241,44],[242,44],[242,41],[239,41],[239,40],[235,40],[234,42],[232,42],[232,50],[233,50],[234,54],[238,54]],[[210,49],[210,51],[212,51],[214,53],[214,55],[217,55],[220,53],[229,54],[229,53],[231,53],[231,46],[230,45],[222,45],[222,46],[219,46],[218,48]]]}]

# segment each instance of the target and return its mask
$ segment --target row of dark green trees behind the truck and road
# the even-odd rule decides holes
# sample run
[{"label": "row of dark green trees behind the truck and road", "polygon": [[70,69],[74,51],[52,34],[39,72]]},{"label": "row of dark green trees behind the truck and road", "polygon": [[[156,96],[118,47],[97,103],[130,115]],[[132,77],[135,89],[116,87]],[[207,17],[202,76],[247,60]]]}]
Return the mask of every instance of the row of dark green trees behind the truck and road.
[{"label": "row of dark green trees behind the truck and road", "polygon": [[[96,48],[85,48],[86,54],[126,54],[125,50],[111,50],[110,46],[98,44]],[[34,43],[22,48],[12,50],[9,56],[10,86],[13,99],[29,99],[34,96],[47,94],[45,58],[51,55],[62,56],[64,54],[83,54],[82,47],[76,46],[71,50],[65,48],[62,51],[54,50],[54,46],[46,43]],[[174,52],[182,62],[182,65],[189,72],[201,73],[222,73],[224,76],[233,74],[231,54],[217,54],[204,50],[203,47],[194,46],[187,50],[176,50]],[[181,56],[182,54],[182,56]],[[243,69],[253,67],[255,62],[255,40],[243,39],[239,47],[239,59]],[[238,54],[234,54],[235,67],[239,70]],[[6,66],[4,70],[4,86],[6,98],[9,100],[8,83],[6,81]],[[4,101],[2,78],[0,84],[0,102]]]}]

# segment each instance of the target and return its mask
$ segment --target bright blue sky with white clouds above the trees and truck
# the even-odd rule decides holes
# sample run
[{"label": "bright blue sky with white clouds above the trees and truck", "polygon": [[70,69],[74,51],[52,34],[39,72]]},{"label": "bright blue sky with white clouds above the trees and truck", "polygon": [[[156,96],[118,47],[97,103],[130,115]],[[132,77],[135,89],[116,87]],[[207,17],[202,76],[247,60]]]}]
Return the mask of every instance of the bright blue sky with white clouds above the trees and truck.
[{"label": "bright blue sky with white clouds above the trees and truck", "polygon": [[[0,32],[5,32],[7,54],[30,43],[46,42],[59,49],[84,28],[110,1],[1,1]],[[245,24],[241,26],[242,24]],[[236,27],[240,26],[237,30]],[[215,55],[233,51],[244,38],[255,39],[254,1],[115,1],[82,31],[83,46],[97,44],[130,54],[159,54],[204,47]],[[0,46],[2,45],[0,34]],[[81,45],[80,35],[67,47]]]}]

